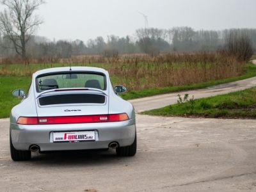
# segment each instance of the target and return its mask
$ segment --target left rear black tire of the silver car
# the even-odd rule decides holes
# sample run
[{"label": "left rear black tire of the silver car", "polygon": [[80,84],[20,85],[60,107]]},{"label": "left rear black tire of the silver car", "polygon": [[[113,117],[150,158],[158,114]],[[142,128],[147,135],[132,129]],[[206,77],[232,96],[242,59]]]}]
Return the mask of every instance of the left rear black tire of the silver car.
[{"label": "left rear black tire of the silver car", "polygon": [[13,161],[28,161],[31,159],[31,152],[29,150],[16,150],[12,145],[12,138],[10,136],[10,152]]}]

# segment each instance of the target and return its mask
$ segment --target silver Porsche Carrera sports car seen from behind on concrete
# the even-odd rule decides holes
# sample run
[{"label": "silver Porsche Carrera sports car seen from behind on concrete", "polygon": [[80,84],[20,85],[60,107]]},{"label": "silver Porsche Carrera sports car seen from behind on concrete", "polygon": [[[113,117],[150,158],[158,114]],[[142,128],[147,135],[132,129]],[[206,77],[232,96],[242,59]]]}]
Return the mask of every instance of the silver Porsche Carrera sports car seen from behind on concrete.
[{"label": "silver Porsche Carrera sports car seen from behind on concrete", "polygon": [[13,91],[22,101],[10,114],[14,161],[31,152],[115,148],[118,156],[136,154],[135,113],[113,88],[109,74],[95,67],[59,67],[35,72],[29,92]]}]

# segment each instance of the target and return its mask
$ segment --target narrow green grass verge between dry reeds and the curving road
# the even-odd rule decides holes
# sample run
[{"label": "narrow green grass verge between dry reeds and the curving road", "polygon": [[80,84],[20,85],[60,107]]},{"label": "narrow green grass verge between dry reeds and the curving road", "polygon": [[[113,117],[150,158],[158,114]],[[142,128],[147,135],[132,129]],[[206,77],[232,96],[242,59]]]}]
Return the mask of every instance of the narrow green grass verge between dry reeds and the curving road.
[{"label": "narrow green grass verge between dry reeds and the curving road", "polygon": [[131,91],[131,92],[122,94],[122,98],[129,100],[129,99],[138,99],[141,97],[149,97],[149,96],[159,95],[164,93],[180,92],[184,90],[196,90],[196,89],[205,88],[208,86],[214,86],[217,84],[229,83],[232,81],[239,81],[242,79],[248,79],[250,77],[255,77],[255,76],[256,76],[256,65],[253,65],[252,63],[247,63],[246,66],[244,67],[244,73],[242,76],[230,77],[227,79],[220,79],[215,81],[208,81],[204,83],[187,84],[184,86],[157,87],[157,88],[151,88],[147,90],[139,90],[136,92]]}]

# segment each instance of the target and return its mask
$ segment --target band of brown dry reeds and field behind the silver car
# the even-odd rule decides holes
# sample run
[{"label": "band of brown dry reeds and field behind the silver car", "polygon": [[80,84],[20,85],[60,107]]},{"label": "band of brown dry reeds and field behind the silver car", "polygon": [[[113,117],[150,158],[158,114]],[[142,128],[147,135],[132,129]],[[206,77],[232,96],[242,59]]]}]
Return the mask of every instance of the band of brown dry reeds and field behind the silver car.
[{"label": "band of brown dry reeds and field behind the silver car", "polygon": [[[37,63],[36,60],[33,63]],[[40,65],[0,65],[0,75],[30,76],[40,68],[95,66],[106,68],[114,84],[123,84],[129,90],[143,90],[225,79],[243,72],[243,63],[225,52],[166,53],[156,57],[145,54],[111,58],[99,55],[74,56],[58,60],[58,64],[49,63],[49,60],[41,59]]]}]

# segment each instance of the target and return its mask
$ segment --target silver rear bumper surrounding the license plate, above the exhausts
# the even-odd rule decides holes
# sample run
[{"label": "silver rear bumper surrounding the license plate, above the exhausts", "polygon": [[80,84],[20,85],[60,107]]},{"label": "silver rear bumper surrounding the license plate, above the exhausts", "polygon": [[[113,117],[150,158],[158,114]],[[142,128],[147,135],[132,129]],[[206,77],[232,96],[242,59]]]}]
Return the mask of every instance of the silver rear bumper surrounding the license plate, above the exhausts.
[{"label": "silver rear bumper surrounding the license plate, above the exhausts", "polygon": [[[95,141],[76,143],[53,143],[54,131],[95,131]],[[31,145],[38,145],[40,151],[84,150],[108,148],[116,141],[120,147],[131,145],[136,134],[135,119],[125,122],[108,122],[93,124],[59,124],[59,125],[10,125],[13,147],[17,150],[29,150]]]}]

